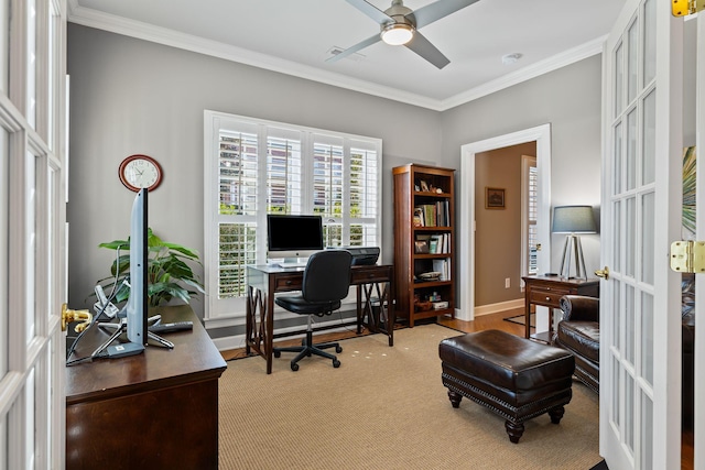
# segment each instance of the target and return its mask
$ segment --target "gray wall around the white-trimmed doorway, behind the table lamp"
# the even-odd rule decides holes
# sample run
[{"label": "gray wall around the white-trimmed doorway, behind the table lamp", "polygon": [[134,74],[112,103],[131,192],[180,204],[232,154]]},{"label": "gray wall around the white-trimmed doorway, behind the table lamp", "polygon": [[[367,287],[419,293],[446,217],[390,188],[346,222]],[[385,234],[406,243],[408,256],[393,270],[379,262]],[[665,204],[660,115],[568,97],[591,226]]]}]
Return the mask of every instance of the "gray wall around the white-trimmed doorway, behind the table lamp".
[{"label": "gray wall around the white-trimmed doorway, behind the table lamp", "polygon": [[[599,206],[600,61],[600,56],[593,56],[443,112],[440,164],[460,168],[462,145],[550,123],[551,207]],[[464,210],[468,210],[467,204],[458,200],[456,220]],[[561,265],[564,237],[552,236],[552,271]],[[467,242],[467,233],[458,230],[456,240]],[[585,265],[592,273],[599,265],[599,236],[582,240]],[[465,291],[466,286],[456,289],[458,303]]]}]

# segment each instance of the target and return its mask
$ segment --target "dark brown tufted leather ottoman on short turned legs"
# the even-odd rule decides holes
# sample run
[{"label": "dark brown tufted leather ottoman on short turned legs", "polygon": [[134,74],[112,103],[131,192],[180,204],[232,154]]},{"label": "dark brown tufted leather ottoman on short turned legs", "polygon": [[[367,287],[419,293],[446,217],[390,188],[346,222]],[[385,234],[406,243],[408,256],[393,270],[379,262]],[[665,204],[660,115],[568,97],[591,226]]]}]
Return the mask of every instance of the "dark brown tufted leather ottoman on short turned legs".
[{"label": "dark brown tufted leather ottoman on short turned legs", "polygon": [[443,385],[453,407],[464,396],[506,419],[509,440],[517,444],[523,423],[547,413],[558,424],[573,396],[573,354],[499,330],[485,330],[438,345]]}]

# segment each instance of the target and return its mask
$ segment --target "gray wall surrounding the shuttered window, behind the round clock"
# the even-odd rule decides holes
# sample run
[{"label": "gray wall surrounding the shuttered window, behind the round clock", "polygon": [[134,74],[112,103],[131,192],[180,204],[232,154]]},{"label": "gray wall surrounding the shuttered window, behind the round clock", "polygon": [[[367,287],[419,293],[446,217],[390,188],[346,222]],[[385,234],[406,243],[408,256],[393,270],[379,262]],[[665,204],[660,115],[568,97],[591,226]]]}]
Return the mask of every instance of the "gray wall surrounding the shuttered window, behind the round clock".
[{"label": "gray wall surrounding the shuttered window, behind the round clock", "polygon": [[[382,138],[382,260],[392,262],[391,168],[435,163],[438,112],[76,24],[67,47],[72,307],[93,304],[87,295],[109,275],[115,253],[98,243],[129,234],[134,194],[118,179],[128,155],[151,155],[164,168],[150,226],[204,252],[204,109]],[[200,316],[203,305],[193,303]]]}]

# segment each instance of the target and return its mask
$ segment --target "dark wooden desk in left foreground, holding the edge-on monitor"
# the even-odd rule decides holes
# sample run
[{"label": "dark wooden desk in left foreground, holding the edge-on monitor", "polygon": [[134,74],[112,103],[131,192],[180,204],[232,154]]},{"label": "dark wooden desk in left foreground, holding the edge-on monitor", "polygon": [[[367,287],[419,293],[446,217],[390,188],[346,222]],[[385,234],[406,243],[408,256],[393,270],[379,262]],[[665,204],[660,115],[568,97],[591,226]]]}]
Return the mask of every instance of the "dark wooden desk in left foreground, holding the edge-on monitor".
[{"label": "dark wooden desk in left foreground, holding the edge-on monitor", "polygon": [[[218,378],[223,357],[189,306],[151,311],[194,323],[165,334],[174,349],[66,368],[67,469],[217,469]],[[109,337],[91,327],[75,358]]]}]

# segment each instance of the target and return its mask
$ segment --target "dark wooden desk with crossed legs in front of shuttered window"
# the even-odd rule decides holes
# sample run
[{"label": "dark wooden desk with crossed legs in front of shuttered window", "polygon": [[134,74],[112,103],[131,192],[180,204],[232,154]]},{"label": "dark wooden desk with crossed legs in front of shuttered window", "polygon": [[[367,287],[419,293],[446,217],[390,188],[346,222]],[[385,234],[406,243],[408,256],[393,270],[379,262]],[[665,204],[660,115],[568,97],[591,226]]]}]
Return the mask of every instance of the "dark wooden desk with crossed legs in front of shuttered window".
[{"label": "dark wooden desk with crossed legs in front of shuttered window", "polygon": [[[258,264],[247,267],[247,276],[245,349],[248,354],[253,350],[263,357],[270,374],[274,338],[297,332],[274,335],[274,293],[301,291],[304,267]],[[362,332],[362,326],[383,332],[389,337],[389,346],[394,346],[393,278],[394,270],[389,264],[352,266],[350,274],[350,284],[357,286],[357,332]]]}]

